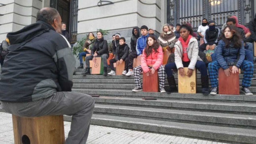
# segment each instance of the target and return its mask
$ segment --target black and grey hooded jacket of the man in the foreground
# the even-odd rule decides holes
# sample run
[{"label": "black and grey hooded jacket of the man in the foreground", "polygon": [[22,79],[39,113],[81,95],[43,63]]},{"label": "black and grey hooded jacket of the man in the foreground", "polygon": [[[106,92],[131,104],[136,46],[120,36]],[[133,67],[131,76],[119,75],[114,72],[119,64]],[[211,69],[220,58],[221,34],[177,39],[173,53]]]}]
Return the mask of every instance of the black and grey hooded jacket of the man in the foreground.
[{"label": "black and grey hooded jacket of the man in the foreground", "polygon": [[75,57],[64,36],[38,21],[8,33],[10,40],[0,80],[0,100],[30,102],[71,91]]}]

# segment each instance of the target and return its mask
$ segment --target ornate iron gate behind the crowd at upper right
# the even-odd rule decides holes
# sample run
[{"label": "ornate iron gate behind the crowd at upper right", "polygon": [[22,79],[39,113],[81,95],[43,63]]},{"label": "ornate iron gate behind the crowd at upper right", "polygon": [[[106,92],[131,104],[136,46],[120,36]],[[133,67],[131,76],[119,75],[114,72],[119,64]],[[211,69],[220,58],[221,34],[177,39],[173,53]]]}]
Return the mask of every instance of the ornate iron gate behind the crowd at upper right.
[{"label": "ornate iron gate behind the crowd at upper right", "polygon": [[167,6],[169,23],[191,23],[193,29],[203,18],[214,20],[219,27],[228,15],[236,15],[242,25],[254,19],[254,0],[167,0]]}]

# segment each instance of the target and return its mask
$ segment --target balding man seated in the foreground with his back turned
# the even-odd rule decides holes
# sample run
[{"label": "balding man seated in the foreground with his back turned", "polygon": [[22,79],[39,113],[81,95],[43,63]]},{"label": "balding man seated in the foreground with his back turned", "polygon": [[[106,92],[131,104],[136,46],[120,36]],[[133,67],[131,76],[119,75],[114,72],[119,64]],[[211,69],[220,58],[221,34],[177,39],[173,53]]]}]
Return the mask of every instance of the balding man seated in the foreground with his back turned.
[{"label": "balding man seated in the foreground with his back turned", "polygon": [[71,92],[75,57],[62,36],[62,19],[54,8],[42,8],[37,22],[8,33],[0,80],[2,108],[20,117],[72,115],[65,144],[85,144],[94,100]]}]

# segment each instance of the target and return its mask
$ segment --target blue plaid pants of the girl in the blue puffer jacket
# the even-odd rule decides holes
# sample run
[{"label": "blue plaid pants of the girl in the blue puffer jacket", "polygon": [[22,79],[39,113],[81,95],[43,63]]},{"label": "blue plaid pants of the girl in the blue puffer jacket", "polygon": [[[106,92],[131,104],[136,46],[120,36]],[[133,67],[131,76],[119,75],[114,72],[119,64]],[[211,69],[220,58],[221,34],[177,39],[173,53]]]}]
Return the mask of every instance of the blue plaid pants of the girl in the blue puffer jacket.
[{"label": "blue plaid pants of the girl in the blue puffer jacket", "polygon": [[[218,86],[218,80],[216,73],[219,71],[220,65],[218,61],[213,61],[209,63],[208,69],[209,69],[209,77],[211,81],[212,87],[217,87]],[[253,76],[253,63],[250,61],[244,60],[240,69],[244,71],[243,75],[243,81],[242,81],[242,86],[243,87],[250,87],[251,81],[252,81],[252,76]]]}]

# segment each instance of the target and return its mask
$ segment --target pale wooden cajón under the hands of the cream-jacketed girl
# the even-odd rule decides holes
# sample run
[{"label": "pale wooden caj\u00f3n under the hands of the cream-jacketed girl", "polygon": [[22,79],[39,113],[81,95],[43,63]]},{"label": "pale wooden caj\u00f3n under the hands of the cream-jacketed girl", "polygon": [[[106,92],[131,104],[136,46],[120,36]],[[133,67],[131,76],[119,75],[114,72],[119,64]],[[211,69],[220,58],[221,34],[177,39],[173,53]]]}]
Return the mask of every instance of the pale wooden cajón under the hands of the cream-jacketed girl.
[{"label": "pale wooden caj\u00f3n under the hands of the cream-jacketed girl", "polygon": [[192,76],[188,77],[188,68],[183,68],[185,71],[185,76],[181,77],[178,70],[178,89],[179,93],[195,94],[196,93],[196,69],[193,70]]}]

